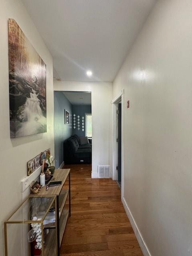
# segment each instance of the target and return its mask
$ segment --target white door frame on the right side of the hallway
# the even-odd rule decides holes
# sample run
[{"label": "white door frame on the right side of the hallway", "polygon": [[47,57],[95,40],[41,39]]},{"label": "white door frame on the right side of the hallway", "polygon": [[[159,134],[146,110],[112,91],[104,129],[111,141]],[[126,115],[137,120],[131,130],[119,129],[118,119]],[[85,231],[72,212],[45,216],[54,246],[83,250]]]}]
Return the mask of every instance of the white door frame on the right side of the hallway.
[{"label": "white door frame on the right side of the hallway", "polygon": [[124,191],[124,89],[117,94],[112,100],[112,180],[116,178],[117,166],[117,142],[116,142],[116,127],[117,127],[117,105],[121,102],[121,197]]}]

